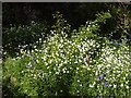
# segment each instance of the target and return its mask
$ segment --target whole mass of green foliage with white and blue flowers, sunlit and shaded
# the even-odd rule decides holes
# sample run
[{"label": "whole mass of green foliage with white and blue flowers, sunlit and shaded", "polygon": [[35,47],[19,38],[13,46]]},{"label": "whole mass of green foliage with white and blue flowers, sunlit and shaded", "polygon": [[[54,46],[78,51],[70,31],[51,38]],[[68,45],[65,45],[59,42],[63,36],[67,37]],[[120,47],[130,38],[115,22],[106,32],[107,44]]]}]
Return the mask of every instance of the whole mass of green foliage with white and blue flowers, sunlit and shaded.
[{"label": "whole mass of green foliage with white and blue flowers, sunlit and shaded", "polygon": [[56,23],[51,25],[46,21],[31,21],[27,25],[7,27],[3,96],[129,97],[129,21],[121,25],[118,25],[120,21],[114,22],[115,15],[122,16],[121,9],[115,10],[91,13],[94,19],[78,28],[58,11],[52,14]]}]

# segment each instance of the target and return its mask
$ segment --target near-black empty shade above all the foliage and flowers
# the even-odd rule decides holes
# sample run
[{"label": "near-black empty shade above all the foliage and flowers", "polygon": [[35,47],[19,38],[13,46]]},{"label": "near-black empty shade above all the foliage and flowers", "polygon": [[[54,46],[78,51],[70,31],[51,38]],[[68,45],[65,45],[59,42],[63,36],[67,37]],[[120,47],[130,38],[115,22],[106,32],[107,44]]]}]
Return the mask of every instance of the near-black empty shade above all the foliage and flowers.
[{"label": "near-black empty shade above all the foliage and flowers", "polygon": [[46,21],[53,24],[52,14],[60,11],[63,17],[78,28],[85,24],[87,20],[94,20],[95,14],[107,11],[105,3],[72,3],[72,2],[11,2],[3,3],[3,28],[10,24],[29,24],[31,21]]}]

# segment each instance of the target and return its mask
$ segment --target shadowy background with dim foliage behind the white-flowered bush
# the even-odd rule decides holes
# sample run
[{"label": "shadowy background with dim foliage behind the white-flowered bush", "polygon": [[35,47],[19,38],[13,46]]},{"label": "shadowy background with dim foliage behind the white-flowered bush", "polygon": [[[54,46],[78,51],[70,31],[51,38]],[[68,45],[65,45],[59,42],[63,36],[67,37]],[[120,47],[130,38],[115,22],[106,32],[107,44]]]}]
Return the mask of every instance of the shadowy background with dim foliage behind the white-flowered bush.
[{"label": "shadowy background with dim foliage behind the white-flowered bush", "polygon": [[70,35],[71,30],[79,30],[79,27],[86,21],[95,21],[97,17],[95,14],[109,11],[111,17],[106,22],[98,23],[100,30],[97,30],[96,34],[111,37],[111,39],[120,39],[122,35],[129,38],[131,32],[130,9],[131,5],[121,2],[3,3],[3,50],[12,57],[15,56],[15,51],[20,50],[17,49],[19,45],[34,44],[41,35],[44,35],[43,37],[49,35],[50,27],[57,21],[52,17],[56,11],[60,11],[70,24],[71,27],[68,32]]}]

